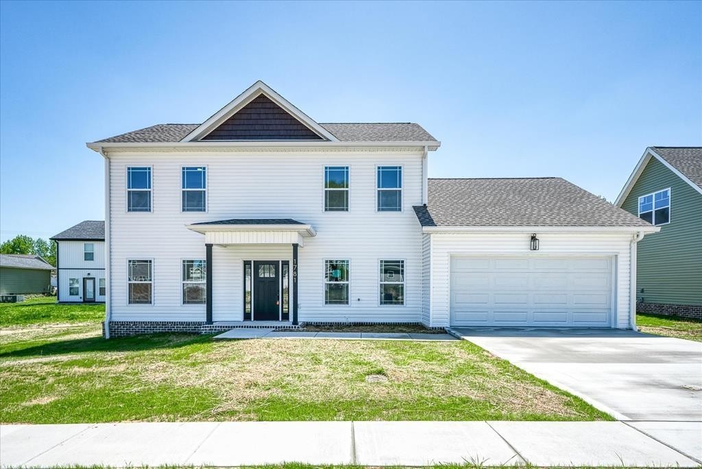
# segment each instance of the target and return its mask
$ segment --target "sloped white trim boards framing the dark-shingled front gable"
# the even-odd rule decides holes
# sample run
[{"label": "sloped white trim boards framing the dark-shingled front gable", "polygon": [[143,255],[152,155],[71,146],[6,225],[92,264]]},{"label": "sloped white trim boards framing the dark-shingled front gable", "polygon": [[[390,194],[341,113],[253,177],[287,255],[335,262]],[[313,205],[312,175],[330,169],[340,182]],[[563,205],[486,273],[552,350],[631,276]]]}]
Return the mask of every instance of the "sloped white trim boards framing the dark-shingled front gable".
[{"label": "sloped white trim boards framing the dark-shingled front gable", "polygon": [[190,142],[191,140],[199,140],[199,138],[204,137],[223,121],[227,120],[230,116],[236,114],[236,112],[239,109],[241,109],[241,107],[244,107],[245,105],[249,104],[251,100],[256,98],[261,93],[266,95],[267,98],[270,98],[270,100],[282,107],[284,110],[292,114],[294,117],[296,117],[296,119],[305,124],[305,126],[311,128],[312,131],[314,131],[314,133],[317,133],[317,135],[319,135],[320,137],[325,138],[326,140],[329,140],[331,142],[338,141],[338,139],[335,136],[333,136],[329,131],[327,131],[326,128],[317,124],[317,122],[311,119],[309,116],[307,116],[307,114],[300,111],[292,103],[283,98],[276,91],[270,88],[270,86],[268,86],[260,80],[256,81],[256,83],[249,86],[249,88],[247,88],[246,91],[244,91],[244,93],[238,95],[236,98],[230,101],[229,104],[227,104],[225,107],[213,114],[202,124],[197,126],[197,128],[195,128],[192,132],[188,133],[187,136],[185,136],[183,140],[180,141]]}]

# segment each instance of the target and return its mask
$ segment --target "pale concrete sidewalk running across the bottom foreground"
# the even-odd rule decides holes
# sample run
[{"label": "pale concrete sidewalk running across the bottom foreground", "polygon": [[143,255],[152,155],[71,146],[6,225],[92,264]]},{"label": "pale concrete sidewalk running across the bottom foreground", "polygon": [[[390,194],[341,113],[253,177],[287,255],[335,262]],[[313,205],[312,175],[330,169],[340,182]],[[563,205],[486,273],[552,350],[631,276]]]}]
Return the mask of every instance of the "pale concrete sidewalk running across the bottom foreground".
[{"label": "pale concrete sidewalk running across the bottom foreground", "polygon": [[[196,422],[1,425],[0,465],[698,467],[700,422]],[[695,461],[693,458],[696,458]]]}]

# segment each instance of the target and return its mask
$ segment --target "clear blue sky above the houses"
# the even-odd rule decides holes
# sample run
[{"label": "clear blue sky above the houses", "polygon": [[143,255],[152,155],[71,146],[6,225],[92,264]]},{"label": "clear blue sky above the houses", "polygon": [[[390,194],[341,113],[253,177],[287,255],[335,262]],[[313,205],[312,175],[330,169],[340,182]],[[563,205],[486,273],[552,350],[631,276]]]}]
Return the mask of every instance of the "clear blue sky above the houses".
[{"label": "clear blue sky above the houses", "polygon": [[262,79],[317,121],[413,121],[432,177],[613,201],[702,145],[702,3],[0,2],[0,238],[104,218],[85,143],[204,121]]}]

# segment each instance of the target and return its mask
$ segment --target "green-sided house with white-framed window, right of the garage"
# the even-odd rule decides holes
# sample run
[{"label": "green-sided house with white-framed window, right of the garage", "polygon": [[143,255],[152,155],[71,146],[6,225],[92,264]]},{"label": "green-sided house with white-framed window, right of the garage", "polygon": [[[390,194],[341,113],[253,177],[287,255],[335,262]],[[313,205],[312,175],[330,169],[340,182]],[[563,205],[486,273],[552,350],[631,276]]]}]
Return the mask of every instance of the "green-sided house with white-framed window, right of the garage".
[{"label": "green-sided house with white-framed window, right of the garage", "polygon": [[649,147],[616,205],[661,231],[637,246],[637,311],[702,317],[702,147]]}]

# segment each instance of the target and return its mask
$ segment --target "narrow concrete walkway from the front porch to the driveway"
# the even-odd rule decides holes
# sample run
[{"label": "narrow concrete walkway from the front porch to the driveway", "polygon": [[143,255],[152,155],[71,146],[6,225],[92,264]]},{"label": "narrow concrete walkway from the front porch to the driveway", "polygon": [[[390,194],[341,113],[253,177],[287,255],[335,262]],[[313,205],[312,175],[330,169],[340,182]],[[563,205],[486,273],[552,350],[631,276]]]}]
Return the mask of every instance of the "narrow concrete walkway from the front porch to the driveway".
[{"label": "narrow concrete walkway from the front porch to the driveway", "polygon": [[213,338],[218,340],[241,338],[328,338],[351,341],[458,341],[458,338],[447,333],[307,332],[253,328],[232,329]]}]

